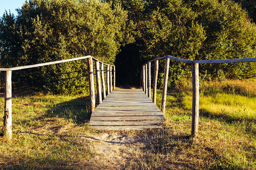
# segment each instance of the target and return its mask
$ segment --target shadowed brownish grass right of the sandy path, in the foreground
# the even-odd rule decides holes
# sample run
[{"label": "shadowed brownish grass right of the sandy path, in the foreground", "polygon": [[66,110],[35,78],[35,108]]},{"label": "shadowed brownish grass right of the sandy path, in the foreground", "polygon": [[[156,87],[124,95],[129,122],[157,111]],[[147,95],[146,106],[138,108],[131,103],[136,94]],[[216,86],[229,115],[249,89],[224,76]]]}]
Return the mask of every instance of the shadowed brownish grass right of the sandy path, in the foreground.
[{"label": "shadowed brownish grass right of the sandy path, in the foreground", "polygon": [[235,169],[214,147],[202,145],[184,132],[177,134],[172,126],[143,132],[143,137],[147,144],[135,156],[133,167],[143,169],[147,164],[152,166],[150,169]]}]

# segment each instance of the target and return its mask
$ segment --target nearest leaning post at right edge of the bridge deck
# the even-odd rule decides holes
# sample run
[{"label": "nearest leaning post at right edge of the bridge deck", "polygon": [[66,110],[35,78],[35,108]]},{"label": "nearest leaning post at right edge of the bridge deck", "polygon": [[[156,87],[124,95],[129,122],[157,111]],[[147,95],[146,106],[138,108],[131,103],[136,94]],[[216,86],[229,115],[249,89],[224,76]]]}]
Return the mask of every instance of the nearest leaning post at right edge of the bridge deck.
[{"label": "nearest leaning post at right edge of the bridge deck", "polygon": [[162,86],[162,104],[161,111],[164,114],[165,111],[165,102],[166,102],[166,93],[167,93],[167,84],[168,84],[168,73],[169,73],[169,63],[170,59],[165,58],[165,67],[164,67],[164,77],[163,77],[163,86]]}]

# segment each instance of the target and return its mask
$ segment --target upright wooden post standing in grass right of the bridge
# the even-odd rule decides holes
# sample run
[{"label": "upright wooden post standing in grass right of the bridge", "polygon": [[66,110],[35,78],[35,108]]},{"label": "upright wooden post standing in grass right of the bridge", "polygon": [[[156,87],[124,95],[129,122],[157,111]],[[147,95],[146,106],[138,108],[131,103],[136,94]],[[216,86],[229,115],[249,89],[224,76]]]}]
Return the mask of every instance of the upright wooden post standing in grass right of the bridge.
[{"label": "upright wooden post standing in grass right of the bridge", "polygon": [[191,135],[198,134],[199,121],[199,64],[192,64],[192,84],[193,84],[193,100],[192,100],[192,128]]}]

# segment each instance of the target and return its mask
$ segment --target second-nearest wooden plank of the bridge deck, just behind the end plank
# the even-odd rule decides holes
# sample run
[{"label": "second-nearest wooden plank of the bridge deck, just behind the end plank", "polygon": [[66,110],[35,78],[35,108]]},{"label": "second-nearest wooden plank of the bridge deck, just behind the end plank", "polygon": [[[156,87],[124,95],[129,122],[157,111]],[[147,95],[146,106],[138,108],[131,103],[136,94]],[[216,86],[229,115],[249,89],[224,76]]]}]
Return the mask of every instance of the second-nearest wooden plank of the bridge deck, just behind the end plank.
[{"label": "second-nearest wooden plank of the bridge deck, just behind the end plank", "polygon": [[90,121],[91,125],[98,125],[98,126],[134,126],[134,125],[158,125],[163,123],[163,120],[154,120],[154,121]]}]

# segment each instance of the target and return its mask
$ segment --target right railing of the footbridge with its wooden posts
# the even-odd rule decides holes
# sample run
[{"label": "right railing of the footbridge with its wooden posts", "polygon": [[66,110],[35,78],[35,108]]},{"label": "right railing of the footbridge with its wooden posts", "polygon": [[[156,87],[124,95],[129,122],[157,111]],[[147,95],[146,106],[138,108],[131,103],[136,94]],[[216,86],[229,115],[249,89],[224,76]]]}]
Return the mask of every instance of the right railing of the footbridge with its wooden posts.
[{"label": "right railing of the footbridge with its wooden posts", "polygon": [[162,88],[162,100],[161,111],[164,114],[166,94],[167,94],[167,82],[169,61],[174,60],[183,63],[192,64],[192,86],[193,86],[193,99],[192,99],[192,127],[191,135],[198,134],[198,122],[199,122],[199,64],[214,64],[214,63],[245,63],[256,62],[256,58],[244,58],[244,59],[225,59],[225,60],[185,60],[177,57],[166,55],[161,58],[150,60],[142,66],[142,89],[151,98],[151,62],[154,62],[154,79],[153,79],[153,97],[152,102],[156,103],[156,84],[158,76],[158,60],[165,59],[163,88]]}]

